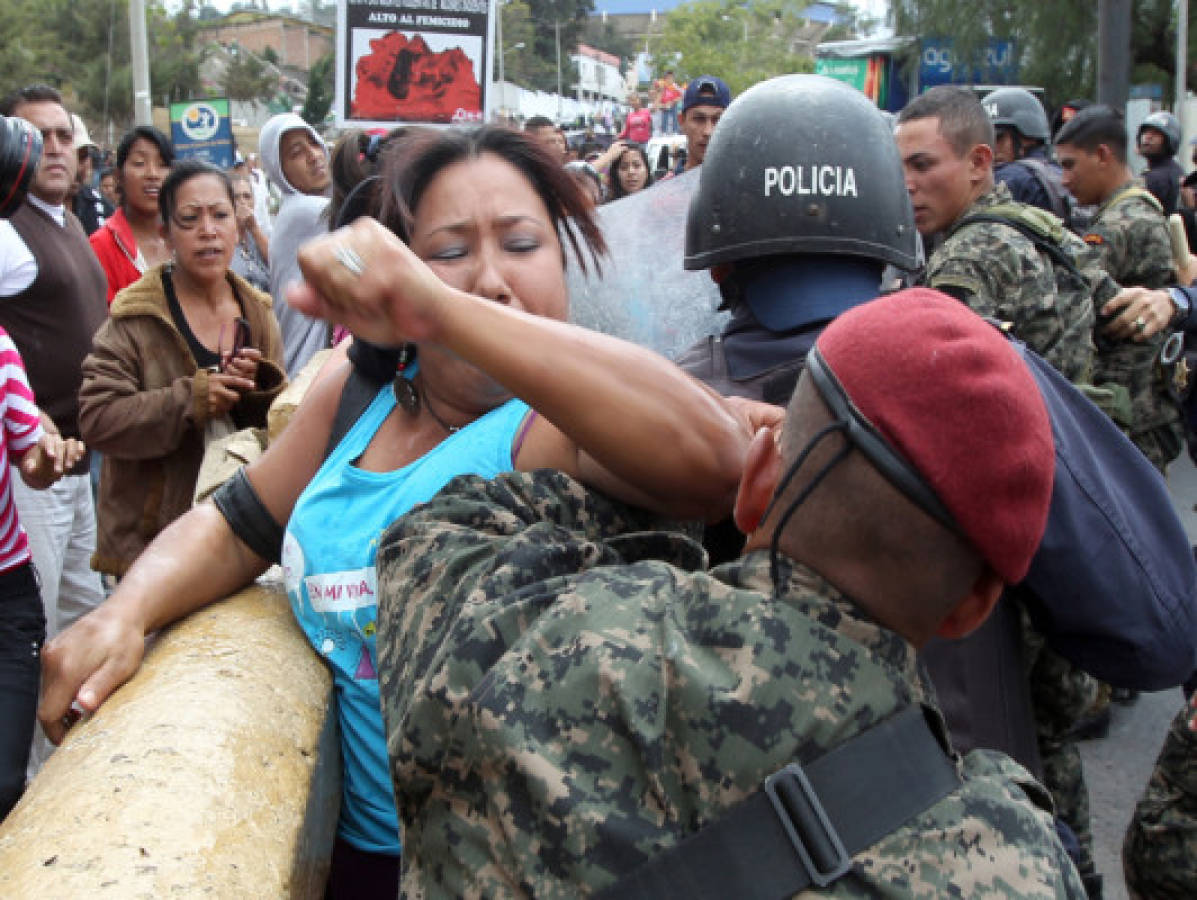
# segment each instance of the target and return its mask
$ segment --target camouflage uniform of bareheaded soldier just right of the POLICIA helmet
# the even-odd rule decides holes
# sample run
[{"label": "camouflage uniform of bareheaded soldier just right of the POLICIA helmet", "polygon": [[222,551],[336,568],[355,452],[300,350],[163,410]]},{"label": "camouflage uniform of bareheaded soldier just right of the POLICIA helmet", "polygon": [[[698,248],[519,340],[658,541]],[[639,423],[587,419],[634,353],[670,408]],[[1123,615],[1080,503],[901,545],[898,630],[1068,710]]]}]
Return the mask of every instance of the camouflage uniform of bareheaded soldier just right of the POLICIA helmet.
[{"label": "camouflage uniform of bareheaded soldier just right of the POLICIA helmet", "polygon": [[[1013,202],[1007,187],[997,184],[977,197],[961,219]],[[1080,238],[1063,235],[1073,255],[1082,262],[1092,259]],[[979,221],[952,232],[928,260],[924,284],[964,300],[978,315],[1009,322],[1015,338],[1070,382],[1089,379],[1092,291],[1070,292],[1069,303],[1062,305],[1051,261],[1009,225]]]}]

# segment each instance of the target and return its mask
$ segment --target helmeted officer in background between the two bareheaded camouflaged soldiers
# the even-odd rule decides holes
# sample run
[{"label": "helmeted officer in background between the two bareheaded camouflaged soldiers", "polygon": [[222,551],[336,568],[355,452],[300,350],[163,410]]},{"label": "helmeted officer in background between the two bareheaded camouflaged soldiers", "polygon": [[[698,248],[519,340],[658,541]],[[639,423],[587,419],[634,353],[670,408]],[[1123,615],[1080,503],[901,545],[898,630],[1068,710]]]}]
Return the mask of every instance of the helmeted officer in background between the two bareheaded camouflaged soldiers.
[{"label": "helmeted officer in background between the two bareheaded camouflaged soldiers", "polygon": [[1074,201],[1061,168],[1049,156],[1051,130],[1039,99],[1022,87],[998,87],[982,99],[994,123],[994,178],[1020,203],[1055,213],[1073,224]]}]

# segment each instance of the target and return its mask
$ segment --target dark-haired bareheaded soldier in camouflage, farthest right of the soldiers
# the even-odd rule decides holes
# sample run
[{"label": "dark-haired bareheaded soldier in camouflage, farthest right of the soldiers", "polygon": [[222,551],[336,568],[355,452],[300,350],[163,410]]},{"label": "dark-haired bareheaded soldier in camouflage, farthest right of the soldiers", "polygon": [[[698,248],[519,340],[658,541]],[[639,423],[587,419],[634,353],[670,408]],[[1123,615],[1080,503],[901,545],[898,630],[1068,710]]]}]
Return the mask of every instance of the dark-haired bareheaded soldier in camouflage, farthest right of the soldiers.
[{"label": "dark-haired bareheaded soldier in camouflage, farthest right of the soldiers", "polygon": [[[1084,242],[1098,249],[1101,264],[1124,287],[1165,287],[1177,281],[1172,242],[1160,201],[1126,165],[1126,123],[1110,107],[1089,107],[1065,124],[1056,152],[1064,183],[1098,212]],[[1136,327],[1143,330],[1144,320]],[[1167,333],[1150,340],[1102,341],[1094,381],[1123,384],[1130,391],[1130,438],[1160,472],[1184,445],[1180,411],[1168,395],[1156,358]]]}]

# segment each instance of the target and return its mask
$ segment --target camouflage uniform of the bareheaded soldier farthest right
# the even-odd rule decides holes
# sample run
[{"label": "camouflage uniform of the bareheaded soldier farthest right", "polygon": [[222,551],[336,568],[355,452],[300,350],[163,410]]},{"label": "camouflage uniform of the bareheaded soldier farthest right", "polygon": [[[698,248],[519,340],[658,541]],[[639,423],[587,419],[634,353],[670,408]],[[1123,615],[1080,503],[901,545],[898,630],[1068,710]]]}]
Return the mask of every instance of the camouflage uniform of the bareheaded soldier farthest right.
[{"label": "camouflage uniform of the bareheaded soldier farthest right", "polygon": [[[1177,281],[1168,226],[1155,197],[1128,182],[1098,207],[1084,235],[1101,264],[1126,287],[1166,287]],[[1184,446],[1180,411],[1168,395],[1156,357],[1168,333],[1142,343],[1099,341],[1094,382],[1123,384],[1131,397],[1130,439],[1163,472]]]}]

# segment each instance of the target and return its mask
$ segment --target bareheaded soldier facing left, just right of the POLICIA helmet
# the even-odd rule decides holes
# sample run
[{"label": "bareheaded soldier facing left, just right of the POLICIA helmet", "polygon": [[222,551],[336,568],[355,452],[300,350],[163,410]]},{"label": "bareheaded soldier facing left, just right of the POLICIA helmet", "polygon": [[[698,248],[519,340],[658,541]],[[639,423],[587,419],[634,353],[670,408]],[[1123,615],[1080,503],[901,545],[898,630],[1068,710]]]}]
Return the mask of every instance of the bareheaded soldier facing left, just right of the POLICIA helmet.
[{"label": "bareheaded soldier facing left, just right of the POLICIA helmet", "polygon": [[[924,238],[943,238],[926,263],[924,284],[967,303],[976,312],[1009,322],[1014,334],[1071,382],[1088,382],[1093,364],[1093,302],[1117,286],[1092,273],[1078,284],[1047,253],[1009,223],[1026,219],[1050,232],[1082,270],[1092,254],[1050,213],[1015,203],[994,183],[994,126],[972,92],[932,87],[899,115],[894,132]],[[1083,272],[1089,276],[1089,272]]]}]

